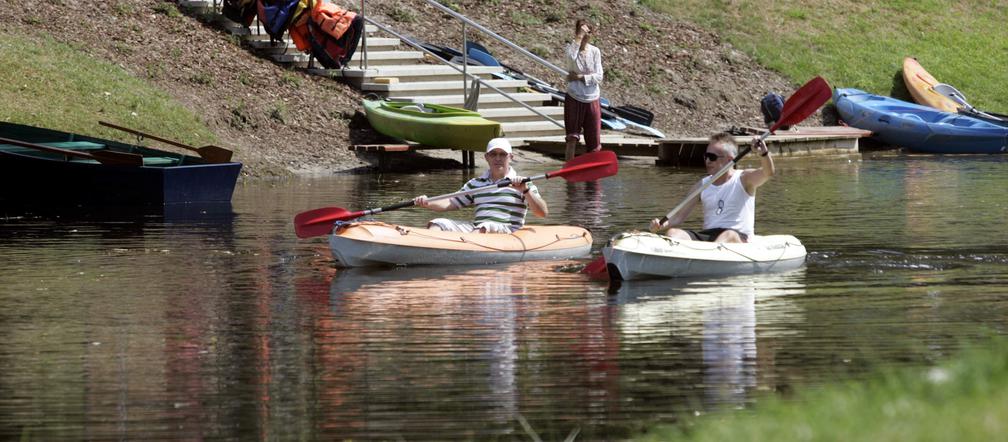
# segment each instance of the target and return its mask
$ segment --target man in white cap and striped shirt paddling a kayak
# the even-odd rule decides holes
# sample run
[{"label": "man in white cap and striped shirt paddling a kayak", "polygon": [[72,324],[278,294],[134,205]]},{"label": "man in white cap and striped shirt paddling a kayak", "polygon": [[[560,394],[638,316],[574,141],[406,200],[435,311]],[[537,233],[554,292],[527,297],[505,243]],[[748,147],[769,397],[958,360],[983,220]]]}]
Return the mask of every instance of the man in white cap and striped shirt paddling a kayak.
[{"label": "man in white cap and striped shirt paddling a kayak", "polygon": [[[435,212],[476,206],[473,222],[435,218],[427,224],[428,228],[467,233],[474,231],[511,233],[525,225],[525,214],[528,209],[532,209],[532,213],[542,218],[549,214],[538,188],[532,183],[522,183],[524,177],[518,176],[511,168],[511,160],[514,157],[511,154],[511,143],[506,138],[491,139],[487,143],[487,153],[483,157],[487,159],[490,169],[480,177],[470,180],[462,190],[487,188],[485,192],[463,195],[450,200],[427,201],[426,195],[413,200],[417,207],[426,207]],[[496,185],[503,180],[510,180],[511,185],[497,187]]]}]

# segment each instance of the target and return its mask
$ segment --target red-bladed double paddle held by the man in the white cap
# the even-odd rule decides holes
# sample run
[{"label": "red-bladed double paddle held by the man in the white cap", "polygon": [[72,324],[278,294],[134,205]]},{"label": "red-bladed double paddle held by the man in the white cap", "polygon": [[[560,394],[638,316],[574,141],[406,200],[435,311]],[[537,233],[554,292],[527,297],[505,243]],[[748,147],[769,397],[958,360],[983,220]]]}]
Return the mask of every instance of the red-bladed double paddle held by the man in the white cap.
[{"label": "red-bladed double paddle held by the man in the white cap", "polygon": [[[555,177],[561,177],[569,182],[577,183],[611,177],[616,175],[617,172],[619,172],[619,162],[616,160],[616,153],[612,150],[600,150],[577,156],[574,159],[564,162],[563,169],[547,172],[535,177],[526,177],[522,180],[522,183]],[[511,186],[511,182],[505,180],[492,186],[430,197],[427,198],[427,201],[447,200],[463,195],[483,192],[487,188],[491,187],[504,188],[508,186]],[[309,210],[307,212],[301,212],[294,217],[294,233],[297,234],[298,238],[326,235],[333,230],[333,223],[336,221],[347,221],[357,219],[362,216],[403,209],[411,206],[413,206],[413,200],[403,201],[401,203],[396,203],[391,206],[378,209],[368,209],[356,212],[351,212],[342,207],[324,207],[322,209]]]}]

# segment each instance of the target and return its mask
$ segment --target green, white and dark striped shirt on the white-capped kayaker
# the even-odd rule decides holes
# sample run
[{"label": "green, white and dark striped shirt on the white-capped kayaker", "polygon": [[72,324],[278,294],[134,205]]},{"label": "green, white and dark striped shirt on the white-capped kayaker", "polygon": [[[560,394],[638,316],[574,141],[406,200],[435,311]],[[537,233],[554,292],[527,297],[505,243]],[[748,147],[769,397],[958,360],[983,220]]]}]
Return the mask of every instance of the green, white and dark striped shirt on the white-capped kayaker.
[{"label": "green, white and dark striped shirt on the white-capped kayaker", "polygon": [[[517,174],[514,172],[514,168],[511,168],[501,181],[515,177]],[[512,230],[520,229],[521,226],[525,225],[525,214],[528,213],[525,196],[510,186],[503,188],[494,186],[498,183],[500,181],[490,180],[490,171],[487,171],[482,176],[470,180],[461,189],[468,191],[485,187],[487,188],[486,192],[455,197],[452,199],[452,205],[457,209],[475,205],[476,215],[473,218],[473,224],[480,225],[482,222],[493,221],[510,225]],[[528,183],[527,187],[529,192],[539,194],[539,190],[532,183]]]}]

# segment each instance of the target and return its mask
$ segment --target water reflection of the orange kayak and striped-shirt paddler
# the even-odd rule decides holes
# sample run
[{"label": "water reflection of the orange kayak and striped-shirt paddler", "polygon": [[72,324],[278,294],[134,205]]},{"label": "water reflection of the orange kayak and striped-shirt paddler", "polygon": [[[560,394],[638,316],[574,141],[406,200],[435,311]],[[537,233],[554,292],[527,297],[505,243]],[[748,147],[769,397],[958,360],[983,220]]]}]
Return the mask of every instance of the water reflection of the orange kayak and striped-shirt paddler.
[{"label": "water reflection of the orange kayak and striped-shirt paddler", "polygon": [[[326,377],[331,426],[366,421],[361,435],[406,439],[424,425],[448,438],[520,434],[519,410],[559,400],[557,389],[573,397],[563,407],[604,416],[619,403],[619,345],[604,289],[594,296],[542,263],[340,271],[316,332],[343,361]],[[373,412],[393,404],[409,419]],[[583,425],[527,418],[540,435]]]}]

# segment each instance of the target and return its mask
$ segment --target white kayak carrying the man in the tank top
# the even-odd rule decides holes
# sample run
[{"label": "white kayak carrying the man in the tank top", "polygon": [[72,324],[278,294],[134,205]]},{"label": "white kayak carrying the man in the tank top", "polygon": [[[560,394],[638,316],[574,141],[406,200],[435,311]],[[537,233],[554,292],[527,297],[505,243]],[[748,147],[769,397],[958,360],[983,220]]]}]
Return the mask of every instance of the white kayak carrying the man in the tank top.
[{"label": "white kayak carrying the man in the tank top", "polygon": [[805,246],[791,235],[721,243],[626,232],[610,239],[602,254],[610,279],[625,281],[785,271],[805,262]]}]

